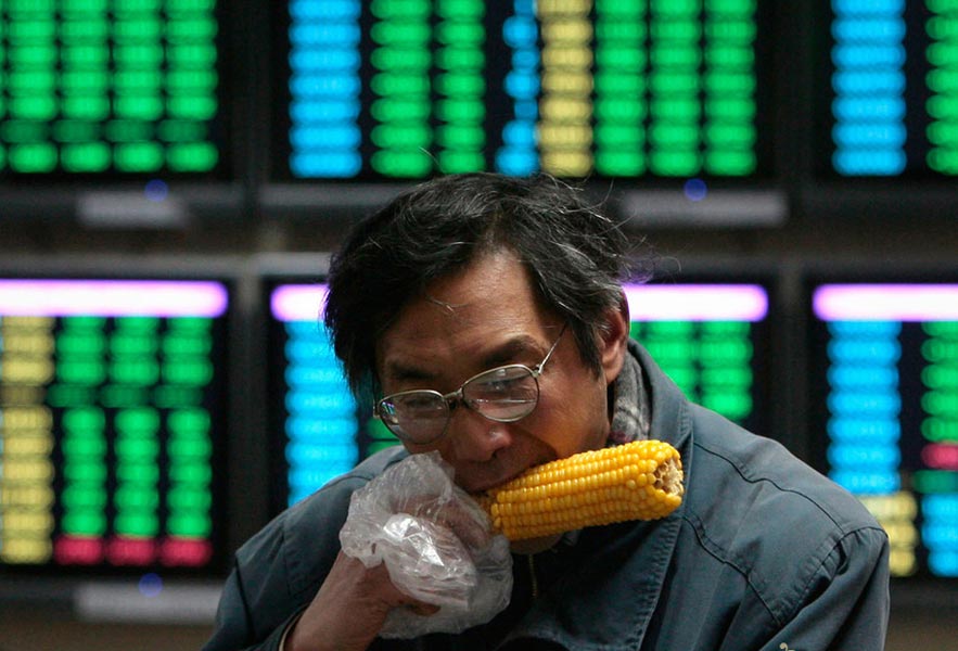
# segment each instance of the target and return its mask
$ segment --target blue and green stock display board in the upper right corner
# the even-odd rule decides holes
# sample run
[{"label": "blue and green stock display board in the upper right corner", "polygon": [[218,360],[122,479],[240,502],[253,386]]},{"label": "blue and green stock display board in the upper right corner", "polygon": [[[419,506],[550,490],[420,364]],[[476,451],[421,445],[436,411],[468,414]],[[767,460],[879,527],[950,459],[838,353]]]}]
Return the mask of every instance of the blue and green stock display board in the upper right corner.
[{"label": "blue and green stock display board in the upper right corner", "polygon": [[958,5],[832,0],[818,31],[819,173],[958,175]]}]

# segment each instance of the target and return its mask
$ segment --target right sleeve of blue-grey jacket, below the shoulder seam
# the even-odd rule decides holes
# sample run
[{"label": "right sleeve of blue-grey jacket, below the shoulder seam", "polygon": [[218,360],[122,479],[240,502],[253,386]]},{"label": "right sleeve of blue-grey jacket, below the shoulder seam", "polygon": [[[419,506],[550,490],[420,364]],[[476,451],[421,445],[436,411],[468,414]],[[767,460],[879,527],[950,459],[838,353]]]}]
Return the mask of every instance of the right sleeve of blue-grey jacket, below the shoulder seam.
[{"label": "right sleeve of blue-grey jacket, below the shoulder seam", "polygon": [[793,616],[763,651],[883,649],[889,618],[889,540],[878,527],[840,539],[804,586]]}]

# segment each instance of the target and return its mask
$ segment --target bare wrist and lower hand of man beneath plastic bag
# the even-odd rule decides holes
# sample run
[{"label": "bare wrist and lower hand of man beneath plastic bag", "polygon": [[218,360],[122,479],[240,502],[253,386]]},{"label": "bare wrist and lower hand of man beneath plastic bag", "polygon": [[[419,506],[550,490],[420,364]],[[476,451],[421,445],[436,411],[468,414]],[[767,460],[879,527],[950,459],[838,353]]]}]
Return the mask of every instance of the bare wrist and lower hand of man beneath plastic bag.
[{"label": "bare wrist and lower hand of man beneath plastic bag", "polygon": [[367,569],[343,552],[312,602],[286,637],[285,651],[361,651],[379,635],[394,608],[431,615],[438,608],[404,595],[385,564]]}]

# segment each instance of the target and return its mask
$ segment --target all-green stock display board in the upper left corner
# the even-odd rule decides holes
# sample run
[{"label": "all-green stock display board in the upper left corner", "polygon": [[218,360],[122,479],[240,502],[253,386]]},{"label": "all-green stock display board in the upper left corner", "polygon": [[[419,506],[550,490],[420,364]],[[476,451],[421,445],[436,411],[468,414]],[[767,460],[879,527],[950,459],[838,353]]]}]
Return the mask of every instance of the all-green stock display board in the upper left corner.
[{"label": "all-green stock display board in the upper left corner", "polygon": [[0,179],[220,173],[216,4],[0,2]]}]

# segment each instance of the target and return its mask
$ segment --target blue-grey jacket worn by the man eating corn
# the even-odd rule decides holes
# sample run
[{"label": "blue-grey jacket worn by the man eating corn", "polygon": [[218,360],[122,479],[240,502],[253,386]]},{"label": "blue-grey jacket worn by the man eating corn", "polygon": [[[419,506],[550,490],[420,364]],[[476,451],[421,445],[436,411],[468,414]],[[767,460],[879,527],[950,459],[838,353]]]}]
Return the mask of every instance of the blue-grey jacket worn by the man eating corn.
[{"label": "blue-grey jacket worn by the man eating corn", "polygon": [[[648,354],[651,438],[682,456],[686,497],[668,518],[583,529],[516,557],[510,607],[458,636],[375,649],[590,651],[880,650],[889,544],[850,494],[689,403]],[[353,490],[398,458],[381,452],[279,515],[237,553],[206,651],[276,649],[339,551]]]}]

